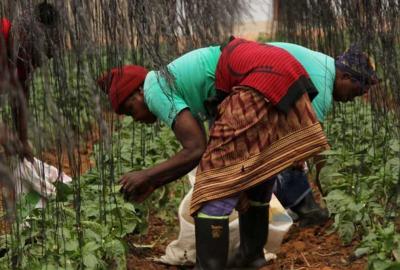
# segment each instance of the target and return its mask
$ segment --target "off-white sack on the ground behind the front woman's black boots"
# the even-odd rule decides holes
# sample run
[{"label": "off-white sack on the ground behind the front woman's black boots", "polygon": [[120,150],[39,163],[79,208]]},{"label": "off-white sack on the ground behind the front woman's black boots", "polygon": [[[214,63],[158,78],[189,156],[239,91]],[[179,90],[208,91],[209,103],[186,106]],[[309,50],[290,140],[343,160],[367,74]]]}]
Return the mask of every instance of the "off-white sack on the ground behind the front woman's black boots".
[{"label": "off-white sack on the ground behind the front woman's black boots", "polygon": [[[190,201],[192,198],[193,185],[196,171],[189,173],[189,181],[192,188],[183,198],[179,205],[179,236],[172,241],[165,250],[165,255],[156,261],[170,265],[192,265],[196,261],[194,220],[190,216]],[[265,245],[264,253],[267,261],[275,259],[276,255],[270,252],[278,252],[284,235],[289,231],[293,220],[286,213],[275,195],[270,202],[270,222],[268,242]],[[233,211],[229,216],[229,253],[228,260],[234,254],[240,244],[238,213]],[[268,250],[268,252],[267,252]]]}]

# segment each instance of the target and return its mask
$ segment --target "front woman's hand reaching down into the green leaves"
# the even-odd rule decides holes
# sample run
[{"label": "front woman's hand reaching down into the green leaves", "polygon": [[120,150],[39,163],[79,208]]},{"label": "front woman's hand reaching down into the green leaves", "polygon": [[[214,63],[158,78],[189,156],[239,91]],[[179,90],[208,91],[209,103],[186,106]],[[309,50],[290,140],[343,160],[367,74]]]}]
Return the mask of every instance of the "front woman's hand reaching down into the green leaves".
[{"label": "front woman's hand reaching down into the green leaves", "polygon": [[119,183],[125,199],[142,202],[156,189],[145,171],[129,172],[121,177]]}]

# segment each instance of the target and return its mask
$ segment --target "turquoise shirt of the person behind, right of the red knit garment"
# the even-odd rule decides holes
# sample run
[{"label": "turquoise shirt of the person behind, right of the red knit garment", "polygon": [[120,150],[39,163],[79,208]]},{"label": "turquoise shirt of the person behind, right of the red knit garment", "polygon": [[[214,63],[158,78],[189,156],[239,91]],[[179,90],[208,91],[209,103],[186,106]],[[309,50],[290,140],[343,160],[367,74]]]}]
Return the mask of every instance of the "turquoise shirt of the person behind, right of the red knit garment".
[{"label": "turquoise shirt of the person behind, right of the red knit garment", "polygon": [[305,47],[284,43],[271,42],[273,46],[280,47],[289,52],[307,71],[312,82],[318,90],[312,106],[320,122],[324,121],[332,107],[332,92],[336,76],[335,60],[323,53]]}]

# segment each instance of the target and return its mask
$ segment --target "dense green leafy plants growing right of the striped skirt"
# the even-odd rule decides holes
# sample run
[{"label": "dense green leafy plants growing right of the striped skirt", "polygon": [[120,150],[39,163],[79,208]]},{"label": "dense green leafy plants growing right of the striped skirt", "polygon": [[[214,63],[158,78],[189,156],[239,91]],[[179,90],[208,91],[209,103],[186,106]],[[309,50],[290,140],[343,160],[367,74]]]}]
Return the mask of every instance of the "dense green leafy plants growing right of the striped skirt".
[{"label": "dense green leafy plants growing right of the striped skirt", "polygon": [[368,105],[343,106],[326,123],[332,150],[320,179],[334,229],[344,244],[361,239],[355,256],[368,255],[370,269],[399,261],[398,192],[400,146],[388,114],[375,122]]}]

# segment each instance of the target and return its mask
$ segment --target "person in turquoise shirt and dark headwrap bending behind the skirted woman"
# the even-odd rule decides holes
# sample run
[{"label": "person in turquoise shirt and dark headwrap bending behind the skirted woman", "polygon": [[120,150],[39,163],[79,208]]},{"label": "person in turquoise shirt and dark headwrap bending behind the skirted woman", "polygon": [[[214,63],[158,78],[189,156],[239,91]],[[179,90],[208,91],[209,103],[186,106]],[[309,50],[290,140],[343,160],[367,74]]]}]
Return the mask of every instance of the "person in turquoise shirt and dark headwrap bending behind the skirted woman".
[{"label": "person in turquoise shirt and dark headwrap bending behind the skirted woman", "polygon": [[[318,89],[318,95],[312,105],[321,123],[329,113],[333,100],[349,101],[354,96],[367,93],[369,87],[378,82],[373,62],[357,45],[352,45],[335,60],[328,55],[296,44],[284,42],[269,44],[287,50],[310,75]],[[359,91],[352,92],[353,95],[350,96],[334,93],[336,76],[349,78],[350,81],[358,84]],[[318,173],[319,171],[317,171],[317,176]],[[295,213],[292,216],[298,219],[301,227],[323,224],[329,217],[327,210],[316,203],[307,175],[302,170],[290,168],[280,173],[274,193],[285,208]]]}]

